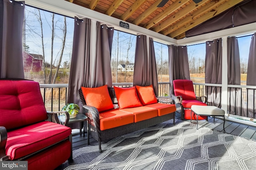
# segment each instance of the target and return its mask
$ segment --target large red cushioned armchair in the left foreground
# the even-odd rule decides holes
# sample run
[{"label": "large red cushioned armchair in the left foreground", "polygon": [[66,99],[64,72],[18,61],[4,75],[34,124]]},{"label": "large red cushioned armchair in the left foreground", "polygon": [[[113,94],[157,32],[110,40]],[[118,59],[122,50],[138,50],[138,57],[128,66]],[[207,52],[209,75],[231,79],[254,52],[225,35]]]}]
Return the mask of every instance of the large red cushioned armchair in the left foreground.
[{"label": "large red cushioned armchair in the left foreground", "polygon": [[66,123],[69,114],[46,111],[38,82],[0,80],[0,113],[0,162],[23,160],[28,170],[52,170],[72,160],[71,129],[57,115],[66,114]]}]

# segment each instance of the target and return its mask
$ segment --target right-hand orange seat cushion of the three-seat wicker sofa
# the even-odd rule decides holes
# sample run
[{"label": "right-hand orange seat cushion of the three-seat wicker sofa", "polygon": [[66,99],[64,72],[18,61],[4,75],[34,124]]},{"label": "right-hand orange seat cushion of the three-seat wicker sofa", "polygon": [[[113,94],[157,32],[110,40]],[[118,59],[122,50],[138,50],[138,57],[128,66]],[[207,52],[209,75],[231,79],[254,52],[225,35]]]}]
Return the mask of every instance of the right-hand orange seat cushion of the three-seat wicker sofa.
[{"label": "right-hand orange seat cushion of the three-seat wicker sofa", "polygon": [[155,103],[146,105],[146,107],[155,108],[158,111],[158,116],[166,115],[168,113],[172,113],[176,111],[175,104],[163,104],[163,103]]}]

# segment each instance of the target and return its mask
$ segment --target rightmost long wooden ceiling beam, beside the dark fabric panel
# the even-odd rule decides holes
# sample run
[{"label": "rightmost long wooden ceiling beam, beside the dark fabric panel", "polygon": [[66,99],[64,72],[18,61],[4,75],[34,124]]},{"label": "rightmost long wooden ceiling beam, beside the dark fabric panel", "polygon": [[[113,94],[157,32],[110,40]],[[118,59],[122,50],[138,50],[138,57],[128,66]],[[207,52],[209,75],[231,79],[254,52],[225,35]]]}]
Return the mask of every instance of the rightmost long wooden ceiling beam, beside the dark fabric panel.
[{"label": "rightmost long wooden ceiling beam, beside the dark fabric panel", "polygon": [[225,10],[228,10],[232,6],[235,6],[236,4],[238,4],[242,1],[243,0],[236,0],[236,1],[229,0],[228,2],[225,2],[224,4],[221,4],[220,6],[216,7],[214,10],[211,10],[211,11],[207,12],[203,16],[197,18],[194,21],[191,21],[190,23],[188,23],[185,26],[181,27],[180,29],[170,33],[169,35],[171,37],[176,37],[176,36],[186,32],[186,31],[188,31],[189,29],[195,27],[196,25],[199,25],[200,23],[209,20],[210,18],[224,12]]}]

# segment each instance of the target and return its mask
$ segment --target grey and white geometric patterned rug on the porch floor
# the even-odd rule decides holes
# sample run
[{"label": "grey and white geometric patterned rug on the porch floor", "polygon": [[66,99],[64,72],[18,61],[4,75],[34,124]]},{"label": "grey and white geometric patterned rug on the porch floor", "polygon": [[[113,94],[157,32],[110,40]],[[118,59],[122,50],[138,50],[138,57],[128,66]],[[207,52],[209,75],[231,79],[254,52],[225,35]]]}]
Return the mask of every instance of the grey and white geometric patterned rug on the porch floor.
[{"label": "grey and white geometric patterned rug on the porch floor", "polygon": [[[199,128],[200,127],[200,128]],[[256,141],[176,119],[73,150],[65,170],[255,170]]]}]

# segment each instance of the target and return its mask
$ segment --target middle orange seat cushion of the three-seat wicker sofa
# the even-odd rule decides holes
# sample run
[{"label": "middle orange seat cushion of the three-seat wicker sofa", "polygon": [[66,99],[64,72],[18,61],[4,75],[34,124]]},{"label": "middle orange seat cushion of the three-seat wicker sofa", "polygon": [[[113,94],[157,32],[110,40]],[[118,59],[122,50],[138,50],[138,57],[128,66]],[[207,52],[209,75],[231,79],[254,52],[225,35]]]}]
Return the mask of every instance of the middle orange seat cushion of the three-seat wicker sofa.
[{"label": "middle orange seat cushion of the three-seat wicker sofa", "polygon": [[141,107],[134,107],[134,108],[126,108],[126,109],[120,109],[121,111],[124,111],[126,113],[132,113],[134,114],[134,122],[150,119],[152,117],[157,116],[157,109],[141,106]]}]

